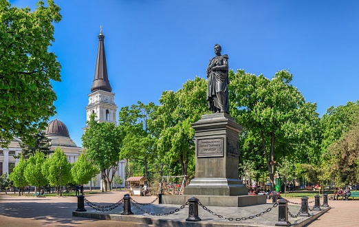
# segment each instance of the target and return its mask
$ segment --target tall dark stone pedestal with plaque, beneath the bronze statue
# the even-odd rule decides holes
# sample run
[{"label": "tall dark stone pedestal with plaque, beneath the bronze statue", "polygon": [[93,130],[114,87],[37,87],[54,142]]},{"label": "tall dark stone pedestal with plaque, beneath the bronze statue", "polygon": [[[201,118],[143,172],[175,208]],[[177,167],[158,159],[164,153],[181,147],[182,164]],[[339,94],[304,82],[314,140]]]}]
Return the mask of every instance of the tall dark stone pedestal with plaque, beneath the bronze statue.
[{"label": "tall dark stone pedestal with plaque, beneath the bronze statue", "polygon": [[248,195],[238,177],[239,132],[226,113],[208,114],[192,124],[195,129],[195,178],[184,195]]}]

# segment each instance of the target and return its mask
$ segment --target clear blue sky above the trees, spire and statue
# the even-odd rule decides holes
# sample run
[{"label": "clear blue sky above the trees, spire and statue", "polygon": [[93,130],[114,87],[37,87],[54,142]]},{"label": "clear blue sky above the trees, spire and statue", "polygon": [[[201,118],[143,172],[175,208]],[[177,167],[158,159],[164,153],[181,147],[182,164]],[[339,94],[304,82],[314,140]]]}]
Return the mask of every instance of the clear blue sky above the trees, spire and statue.
[{"label": "clear blue sky above the trees, spire and statue", "polygon": [[[34,0],[10,1],[34,9]],[[120,107],[158,103],[188,79],[206,78],[219,43],[231,69],[292,85],[320,116],[359,97],[359,1],[55,0],[63,19],[51,51],[62,65],[57,119],[80,147],[94,80],[100,25],[107,70]],[[53,120],[54,118],[52,118]]]}]

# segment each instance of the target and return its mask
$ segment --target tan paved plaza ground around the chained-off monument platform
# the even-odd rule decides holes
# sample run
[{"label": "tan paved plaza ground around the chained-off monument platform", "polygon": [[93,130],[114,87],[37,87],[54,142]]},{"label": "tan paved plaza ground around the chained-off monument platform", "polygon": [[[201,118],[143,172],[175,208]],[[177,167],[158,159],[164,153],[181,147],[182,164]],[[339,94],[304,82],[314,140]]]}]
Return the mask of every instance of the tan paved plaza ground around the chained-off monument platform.
[{"label": "tan paved plaza ground around the chained-off monument platform", "polygon": [[[122,199],[125,193],[127,192],[114,191],[85,196],[89,201],[94,203],[113,204]],[[149,203],[152,202],[155,197],[133,197],[133,199],[140,203]],[[288,199],[290,202],[300,202],[300,199]],[[155,204],[157,203],[156,201]],[[261,206],[265,206],[265,204]],[[266,206],[270,205],[267,204]],[[329,200],[329,206],[331,206],[331,210],[327,211],[327,213],[320,216],[308,226],[359,226],[358,199],[354,201]],[[76,210],[76,208],[77,197],[36,198],[0,194],[0,226],[150,226],[147,224],[136,224],[135,222],[72,217],[72,211]],[[91,210],[87,204],[85,204],[85,208]],[[213,209],[215,210],[215,208]],[[137,209],[132,207],[132,211],[135,210]],[[229,210],[232,210],[232,208]],[[201,215],[202,213],[200,213],[200,217]],[[266,215],[269,215],[269,213]],[[277,214],[272,213],[270,215],[276,216]],[[210,220],[208,219],[208,221]],[[294,221],[291,222],[292,224],[295,223]]]}]

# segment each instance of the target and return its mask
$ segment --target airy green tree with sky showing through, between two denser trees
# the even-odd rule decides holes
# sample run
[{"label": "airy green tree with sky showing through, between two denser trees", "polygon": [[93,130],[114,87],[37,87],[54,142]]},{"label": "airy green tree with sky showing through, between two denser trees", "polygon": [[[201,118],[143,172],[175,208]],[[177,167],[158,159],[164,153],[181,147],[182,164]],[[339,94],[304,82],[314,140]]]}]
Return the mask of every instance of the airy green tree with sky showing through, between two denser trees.
[{"label": "airy green tree with sky showing through, between two denser trees", "polygon": [[150,102],[144,105],[138,102],[138,105],[122,107],[118,114],[118,131],[121,133],[122,149],[120,151],[120,159],[140,160],[141,166],[144,166],[145,177],[147,175],[148,159],[153,159],[155,153],[155,138],[153,129],[151,129],[151,115],[157,106]]}]

